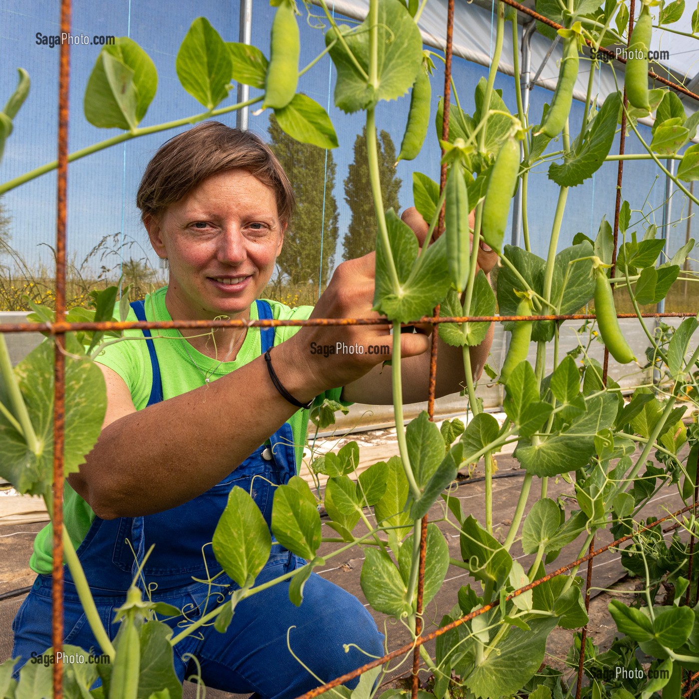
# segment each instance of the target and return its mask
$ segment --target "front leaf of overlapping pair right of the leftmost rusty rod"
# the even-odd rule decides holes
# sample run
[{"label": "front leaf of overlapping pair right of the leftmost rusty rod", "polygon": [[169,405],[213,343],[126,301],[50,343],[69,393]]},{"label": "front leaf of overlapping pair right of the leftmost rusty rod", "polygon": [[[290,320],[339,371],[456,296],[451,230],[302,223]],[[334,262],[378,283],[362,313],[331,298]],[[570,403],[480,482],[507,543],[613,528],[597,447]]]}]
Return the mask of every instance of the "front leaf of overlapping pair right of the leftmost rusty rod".
[{"label": "front leaf of overlapping pair right of the leftmost rusty rod", "polygon": [[137,105],[134,71],[103,49],[85,88],[85,119],[100,129],[129,131],[138,126]]}]

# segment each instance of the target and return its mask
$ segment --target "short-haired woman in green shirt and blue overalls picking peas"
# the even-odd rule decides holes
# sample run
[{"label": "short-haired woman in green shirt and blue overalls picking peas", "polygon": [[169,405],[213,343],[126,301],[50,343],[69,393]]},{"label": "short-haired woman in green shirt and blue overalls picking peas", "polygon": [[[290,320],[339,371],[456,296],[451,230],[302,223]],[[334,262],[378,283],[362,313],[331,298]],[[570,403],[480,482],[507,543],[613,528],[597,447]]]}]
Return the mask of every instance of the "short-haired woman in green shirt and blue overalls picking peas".
[{"label": "short-haired woman in green shirt and blue overalls picking peas", "polygon": [[[146,168],[137,203],[155,252],[169,262],[169,282],[145,304],[132,304],[129,319],[376,315],[374,253],[340,264],[315,308],[258,300],[282,249],[294,194],[271,150],[250,132],[205,122],[168,140]],[[417,212],[404,218],[424,240]],[[489,272],[495,255],[482,250],[479,261]],[[391,371],[380,366],[385,354],[319,361],[310,352],[312,343],[338,342],[390,351],[387,326],[153,335],[159,339],[117,343],[99,356],[106,418],[66,486],[66,527],[110,637],[118,630],[114,611],[152,544],[143,575],[157,584],[152,599],[182,610],[165,619],[173,628],[228,599],[236,584],[227,575],[213,586],[201,580],[221,571],[210,542],[229,491],[245,488],[269,523],[275,484],[287,482],[300,463],[304,408],[312,401],[391,403]],[[472,348],[476,375],[490,343],[491,333]],[[406,402],[426,398],[429,345],[426,333],[401,336]],[[437,394],[458,390],[461,380],[461,349],[441,345]],[[22,656],[20,663],[51,645],[50,527],[37,536],[30,565],[38,577],[13,623],[13,657]],[[275,544],[256,584],[298,565],[303,561]],[[64,572],[65,642],[99,652],[67,566]],[[225,633],[212,626],[199,632],[175,645],[180,680],[195,670],[183,659],[189,653],[199,659],[206,685],[270,699],[296,697],[366,661],[354,646],[345,653],[343,644],[374,656],[384,652],[383,636],[359,600],[315,573],[301,607],[290,603],[288,583],[278,584],[243,600]]]}]

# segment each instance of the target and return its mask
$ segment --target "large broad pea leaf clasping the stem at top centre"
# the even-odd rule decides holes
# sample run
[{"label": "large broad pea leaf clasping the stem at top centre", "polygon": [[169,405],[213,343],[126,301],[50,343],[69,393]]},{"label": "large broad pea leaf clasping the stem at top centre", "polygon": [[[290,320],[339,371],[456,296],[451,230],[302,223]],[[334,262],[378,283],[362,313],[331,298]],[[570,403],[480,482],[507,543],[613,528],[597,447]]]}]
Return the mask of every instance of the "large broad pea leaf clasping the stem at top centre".
[{"label": "large broad pea leaf clasping the stem at top centre", "polygon": [[417,24],[399,0],[384,0],[378,8],[377,26],[377,87],[368,80],[369,18],[358,27],[345,24],[338,27],[356,63],[337,38],[336,29],[325,35],[326,46],[338,71],[335,103],[347,113],[373,107],[378,101],[397,99],[412,87],[422,66],[422,38]]}]

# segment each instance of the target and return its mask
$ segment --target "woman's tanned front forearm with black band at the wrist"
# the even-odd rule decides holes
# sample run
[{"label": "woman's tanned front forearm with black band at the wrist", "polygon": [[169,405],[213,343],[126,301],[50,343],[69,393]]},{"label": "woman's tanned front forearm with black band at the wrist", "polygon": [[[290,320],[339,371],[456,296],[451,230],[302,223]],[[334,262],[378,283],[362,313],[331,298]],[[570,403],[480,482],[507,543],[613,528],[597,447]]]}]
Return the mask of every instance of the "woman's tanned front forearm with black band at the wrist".
[{"label": "woman's tanned front forearm with black band at the wrist", "polygon": [[[282,343],[272,356],[292,396],[321,393]],[[124,415],[71,474],[71,487],[99,517],[136,517],[168,510],[231,473],[296,412],[275,389],[264,357],[206,387]]]}]

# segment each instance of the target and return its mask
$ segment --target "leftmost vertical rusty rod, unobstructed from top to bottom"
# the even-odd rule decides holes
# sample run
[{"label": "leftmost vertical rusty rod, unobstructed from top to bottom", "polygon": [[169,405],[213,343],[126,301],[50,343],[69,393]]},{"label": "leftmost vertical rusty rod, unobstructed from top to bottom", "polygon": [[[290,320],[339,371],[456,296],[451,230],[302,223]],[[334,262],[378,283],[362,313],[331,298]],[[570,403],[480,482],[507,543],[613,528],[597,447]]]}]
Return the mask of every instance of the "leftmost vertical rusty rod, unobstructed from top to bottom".
[{"label": "leftmost vertical rusty rod, unobstructed from top to bottom", "polygon": [[[71,0],[61,1],[61,34],[71,31]],[[71,47],[61,42],[58,88],[58,187],[56,206],[56,321],[66,314],[66,217],[68,189],[68,119]],[[54,653],[63,649],[63,450],[65,430],[65,361],[66,336],[57,333],[54,366],[53,401],[53,563],[51,570],[52,612],[51,637]],[[63,660],[56,658],[53,666],[53,696],[63,696]]]}]

